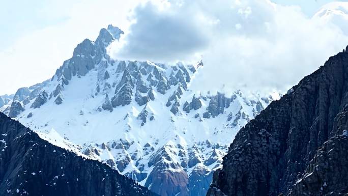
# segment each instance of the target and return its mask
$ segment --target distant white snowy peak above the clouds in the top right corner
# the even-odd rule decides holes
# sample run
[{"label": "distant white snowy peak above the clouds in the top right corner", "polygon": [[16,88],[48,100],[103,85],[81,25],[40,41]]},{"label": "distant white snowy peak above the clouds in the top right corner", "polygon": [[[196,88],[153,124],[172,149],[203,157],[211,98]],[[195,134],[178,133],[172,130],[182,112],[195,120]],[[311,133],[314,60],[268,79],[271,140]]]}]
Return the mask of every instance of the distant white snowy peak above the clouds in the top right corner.
[{"label": "distant white snowy peak above the clouds in the top right corner", "polygon": [[314,16],[327,24],[336,25],[348,35],[348,2],[332,2],[324,5]]}]

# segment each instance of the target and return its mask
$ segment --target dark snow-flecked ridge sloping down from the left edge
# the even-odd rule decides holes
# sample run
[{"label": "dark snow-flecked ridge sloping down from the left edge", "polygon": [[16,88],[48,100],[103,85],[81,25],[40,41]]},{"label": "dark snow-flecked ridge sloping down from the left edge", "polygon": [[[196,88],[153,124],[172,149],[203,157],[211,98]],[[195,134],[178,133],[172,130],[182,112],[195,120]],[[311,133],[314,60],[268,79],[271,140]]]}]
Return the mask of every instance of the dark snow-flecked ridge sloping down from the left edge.
[{"label": "dark snow-flecked ridge sloping down from the left edge", "polygon": [[41,139],[0,113],[0,195],[154,195],[108,165]]}]

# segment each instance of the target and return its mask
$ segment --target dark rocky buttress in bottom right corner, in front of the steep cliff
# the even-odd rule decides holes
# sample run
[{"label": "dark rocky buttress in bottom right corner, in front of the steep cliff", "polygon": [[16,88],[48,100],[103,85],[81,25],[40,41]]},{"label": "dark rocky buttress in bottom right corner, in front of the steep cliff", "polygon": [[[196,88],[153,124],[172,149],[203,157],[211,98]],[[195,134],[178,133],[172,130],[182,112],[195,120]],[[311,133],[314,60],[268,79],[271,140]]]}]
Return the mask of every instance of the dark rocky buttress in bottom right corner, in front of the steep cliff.
[{"label": "dark rocky buttress in bottom right corner, in front of the steep cliff", "polygon": [[325,142],[298,179],[290,196],[348,194],[348,136]]}]

